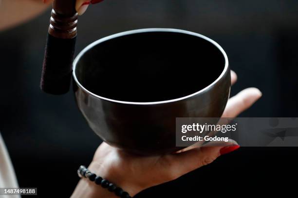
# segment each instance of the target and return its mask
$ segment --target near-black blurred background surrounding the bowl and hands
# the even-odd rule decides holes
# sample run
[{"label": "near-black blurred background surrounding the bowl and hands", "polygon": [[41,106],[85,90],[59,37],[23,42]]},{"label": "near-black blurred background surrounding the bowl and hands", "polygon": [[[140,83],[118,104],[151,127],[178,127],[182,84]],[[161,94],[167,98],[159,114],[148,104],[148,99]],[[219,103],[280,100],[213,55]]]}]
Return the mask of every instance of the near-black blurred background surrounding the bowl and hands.
[{"label": "near-black blurred background surrounding the bowl and hands", "polygon": [[[0,131],[21,187],[37,187],[39,197],[69,197],[76,168],[90,163],[101,140],[73,93],[57,97],[39,90],[49,14],[0,33]],[[238,73],[232,95],[250,86],[263,93],[241,116],[297,117],[297,0],[106,0],[79,18],[76,53],[112,33],[153,27],[202,33],[225,49]],[[296,192],[290,186],[297,151],[240,148],[137,197],[285,196]]]}]

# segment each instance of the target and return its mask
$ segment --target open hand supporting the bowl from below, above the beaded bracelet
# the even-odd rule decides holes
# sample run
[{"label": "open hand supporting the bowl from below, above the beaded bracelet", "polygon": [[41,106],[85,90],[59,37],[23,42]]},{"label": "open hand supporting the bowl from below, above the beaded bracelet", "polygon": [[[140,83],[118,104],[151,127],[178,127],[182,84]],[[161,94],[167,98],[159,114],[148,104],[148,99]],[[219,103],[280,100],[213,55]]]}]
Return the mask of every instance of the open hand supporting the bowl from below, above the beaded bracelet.
[{"label": "open hand supporting the bowl from below, above the beaded bracelet", "polygon": [[[236,74],[231,72],[232,84],[236,81]],[[236,117],[260,97],[261,92],[258,89],[244,89],[229,99],[223,117]],[[228,144],[235,142],[230,141]],[[219,149],[220,147],[188,148],[176,154],[136,157],[102,143],[95,152],[93,164],[96,164],[96,169],[101,170],[103,177],[117,181],[119,185],[130,188],[130,192],[137,193],[139,189],[174,180],[211,163],[220,155]],[[125,182],[119,181],[119,178],[125,178]]]}]

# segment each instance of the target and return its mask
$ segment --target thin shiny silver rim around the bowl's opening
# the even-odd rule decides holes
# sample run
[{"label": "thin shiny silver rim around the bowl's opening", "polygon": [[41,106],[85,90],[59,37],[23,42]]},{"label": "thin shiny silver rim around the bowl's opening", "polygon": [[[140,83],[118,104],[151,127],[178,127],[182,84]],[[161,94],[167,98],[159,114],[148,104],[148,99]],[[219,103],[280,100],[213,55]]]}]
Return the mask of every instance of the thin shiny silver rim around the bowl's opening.
[{"label": "thin shiny silver rim around the bowl's opening", "polygon": [[[170,99],[170,100],[162,100],[162,101],[155,101],[155,102],[130,102],[130,101],[121,101],[121,100],[116,100],[116,99],[109,99],[109,98],[105,98],[105,97],[101,97],[101,96],[98,96],[92,92],[90,92],[89,90],[87,90],[76,78],[76,75],[75,75],[75,68],[76,68],[76,65],[79,61],[79,59],[89,50],[89,49],[92,49],[94,46],[102,43],[102,42],[105,42],[107,40],[110,40],[110,39],[113,39],[113,38],[117,38],[117,37],[120,37],[120,36],[125,36],[125,35],[129,35],[129,34],[135,34],[135,33],[148,33],[148,32],[171,32],[171,33],[184,33],[184,34],[189,34],[189,35],[193,35],[193,36],[197,36],[197,37],[200,37],[200,38],[203,38],[205,39],[206,41],[210,42],[211,44],[213,44],[215,47],[217,47],[223,54],[223,57],[224,57],[224,61],[225,61],[225,64],[224,64],[224,68],[223,68],[223,72],[221,73],[221,75],[214,81],[212,82],[211,84],[209,84],[208,86],[206,86],[205,88],[193,93],[193,94],[190,94],[190,95],[187,95],[187,96],[184,96],[184,97],[181,97],[181,98],[177,98],[177,99]],[[90,45],[88,45],[86,48],[84,48],[82,51],[80,51],[80,53],[76,56],[74,62],[73,62],[73,78],[76,82],[76,84],[83,90],[85,91],[86,93],[92,95],[93,97],[95,98],[98,98],[98,99],[103,99],[103,100],[107,100],[107,101],[110,101],[110,102],[115,102],[115,103],[121,103],[121,104],[134,104],[134,105],[154,105],[154,104],[165,104],[165,103],[171,103],[171,102],[177,102],[177,101],[180,101],[180,100],[184,100],[184,99],[188,99],[188,98],[191,98],[195,95],[198,95],[202,92],[205,92],[206,90],[210,89],[214,84],[216,84],[218,81],[220,81],[220,79],[222,79],[222,77],[224,76],[224,74],[227,72],[227,70],[229,69],[229,61],[228,61],[228,58],[227,58],[227,55],[225,53],[225,51],[223,50],[223,48],[217,43],[215,42],[214,40],[200,34],[200,33],[194,33],[194,32],[190,32],[190,31],[186,31],[186,30],[180,30],[180,29],[172,29],[172,28],[146,28],[146,29],[138,29],[138,30],[130,30],[130,31],[126,31],[126,32],[122,32],[122,33],[116,33],[116,34],[112,34],[110,36],[106,36],[104,38],[101,38],[99,40],[96,40],[94,41],[93,43],[91,43]]]}]

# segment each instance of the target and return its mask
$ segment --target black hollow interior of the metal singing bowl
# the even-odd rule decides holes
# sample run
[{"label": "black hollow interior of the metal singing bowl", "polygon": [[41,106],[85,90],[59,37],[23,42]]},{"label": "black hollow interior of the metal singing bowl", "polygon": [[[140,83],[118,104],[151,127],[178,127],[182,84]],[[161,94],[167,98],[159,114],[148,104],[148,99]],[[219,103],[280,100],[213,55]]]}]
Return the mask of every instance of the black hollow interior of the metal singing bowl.
[{"label": "black hollow interior of the metal singing bowl", "polygon": [[221,50],[204,38],[145,32],[98,43],[79,57],[75,75],[98,96],[155,102],[200,91],[221,75],[224,65]]}]

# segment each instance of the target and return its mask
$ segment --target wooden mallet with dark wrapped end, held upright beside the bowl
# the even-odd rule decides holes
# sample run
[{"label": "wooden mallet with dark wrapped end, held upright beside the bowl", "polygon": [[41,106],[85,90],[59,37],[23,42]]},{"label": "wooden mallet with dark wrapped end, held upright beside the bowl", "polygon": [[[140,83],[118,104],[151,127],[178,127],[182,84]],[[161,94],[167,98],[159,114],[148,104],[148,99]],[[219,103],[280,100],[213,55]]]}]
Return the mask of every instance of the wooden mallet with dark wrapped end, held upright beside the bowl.
[{"label": "wooden mallet with dark wrapped end, held upright beside the bowl", "polygon": [[75,0],[55,0],[48,31],[40,87],[49,94],[69,91],[75,53]]}]

